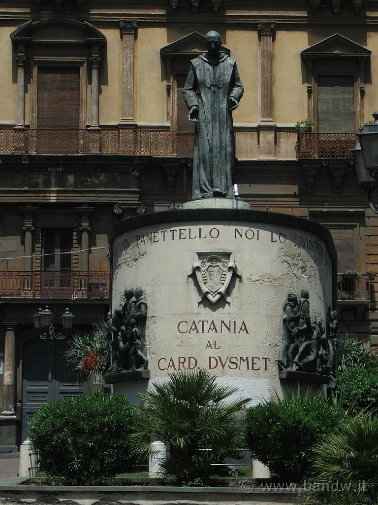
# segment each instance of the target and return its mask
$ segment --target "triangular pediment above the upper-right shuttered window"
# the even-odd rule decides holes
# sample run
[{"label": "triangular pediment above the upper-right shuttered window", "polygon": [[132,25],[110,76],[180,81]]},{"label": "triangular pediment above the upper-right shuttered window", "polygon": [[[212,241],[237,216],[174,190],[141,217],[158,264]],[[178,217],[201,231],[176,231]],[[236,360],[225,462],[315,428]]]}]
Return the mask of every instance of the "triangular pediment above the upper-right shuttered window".
[{"label": "triangular pediment above the upper-right shuttered window", "polygon": [[304,59],[331,56],[368,58],[371,51],[353,42],[353,40],[340,35],[340,33],[335,33],[331,37],[310,45],[301,54]]}]

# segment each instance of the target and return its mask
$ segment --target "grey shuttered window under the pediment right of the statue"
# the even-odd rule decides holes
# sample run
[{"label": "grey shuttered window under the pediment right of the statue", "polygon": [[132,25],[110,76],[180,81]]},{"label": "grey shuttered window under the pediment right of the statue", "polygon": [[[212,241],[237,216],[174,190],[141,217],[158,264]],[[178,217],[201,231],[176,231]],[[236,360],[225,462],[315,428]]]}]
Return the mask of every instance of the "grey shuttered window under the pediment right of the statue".
[{"label": "grey shuttered window under the pediment right of the statue", "polygon": [[325,133],[353,133],[353,77],[318,76],[318,129]]}]

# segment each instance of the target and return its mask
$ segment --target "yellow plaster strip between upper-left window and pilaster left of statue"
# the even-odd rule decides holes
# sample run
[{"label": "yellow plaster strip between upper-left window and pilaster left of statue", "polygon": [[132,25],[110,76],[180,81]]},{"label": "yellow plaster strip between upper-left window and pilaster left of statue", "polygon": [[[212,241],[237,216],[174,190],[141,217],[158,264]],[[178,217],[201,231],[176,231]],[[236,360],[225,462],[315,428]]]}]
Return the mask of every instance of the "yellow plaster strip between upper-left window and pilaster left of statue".
[{"label": "yellow plaster strip between upper-left window and pilaster left of statue", "polygon": [[[100,124],[117,124],[121,114],[120,78],[122,72],[122,41],[119,29],[106,29],[102,26],[97,26],[97,28],[106,37],[106,47],[101,54],[102,60],[99,72]],[[89,71],[91,72],[90,65]],[[90,100],[91,94],[89,93],[87,105],[90,105]]]}]

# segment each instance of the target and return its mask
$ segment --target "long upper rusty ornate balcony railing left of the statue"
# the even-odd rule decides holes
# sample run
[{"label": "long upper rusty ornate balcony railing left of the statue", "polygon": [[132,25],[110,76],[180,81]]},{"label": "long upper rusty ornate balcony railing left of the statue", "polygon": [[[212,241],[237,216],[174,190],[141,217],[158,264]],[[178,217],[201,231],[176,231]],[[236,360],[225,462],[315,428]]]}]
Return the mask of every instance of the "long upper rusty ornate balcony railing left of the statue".
[{"label": "long upper rusty ornate balcony railing left of the statue", "polygon": [[189,132],[99,129],[0,129],[0,154],[193,157]]}]

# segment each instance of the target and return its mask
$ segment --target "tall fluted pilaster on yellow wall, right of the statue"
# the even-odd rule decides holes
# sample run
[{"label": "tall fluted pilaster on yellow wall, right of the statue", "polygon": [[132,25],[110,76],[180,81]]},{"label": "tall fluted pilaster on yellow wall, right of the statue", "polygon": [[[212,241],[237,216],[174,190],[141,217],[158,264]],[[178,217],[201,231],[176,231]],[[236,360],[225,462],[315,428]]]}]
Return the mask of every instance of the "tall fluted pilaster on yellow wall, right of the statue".
[{"label": "tall fluted pilaster on yellow wall, right of the statue", "polygon": [[260,158],[275,157],[274,58],[275,23],[259,23],[260,37]]}]

